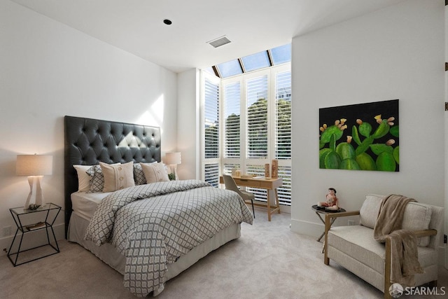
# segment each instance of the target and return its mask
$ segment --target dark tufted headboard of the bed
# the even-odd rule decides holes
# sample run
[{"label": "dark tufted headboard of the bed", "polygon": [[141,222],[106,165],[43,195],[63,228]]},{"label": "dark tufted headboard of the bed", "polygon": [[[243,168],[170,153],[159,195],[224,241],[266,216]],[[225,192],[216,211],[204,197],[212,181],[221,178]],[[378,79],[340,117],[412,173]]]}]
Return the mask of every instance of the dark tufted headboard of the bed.
[{"label": "dark tufted headboard of the bed", "polygon": [[160,139],[160,127],[64,117],[65,237],[72,211],[70,195],[78,190],[73,165],[160,162]]}]

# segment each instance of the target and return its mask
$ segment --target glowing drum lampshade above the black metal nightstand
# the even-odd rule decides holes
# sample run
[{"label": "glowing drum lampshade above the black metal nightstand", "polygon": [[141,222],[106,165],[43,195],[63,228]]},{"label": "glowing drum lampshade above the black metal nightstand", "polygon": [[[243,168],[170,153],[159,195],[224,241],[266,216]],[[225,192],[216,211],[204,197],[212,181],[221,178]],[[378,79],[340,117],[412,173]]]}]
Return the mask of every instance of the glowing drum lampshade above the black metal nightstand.
[{"label": "glowing drum lampshade above the black metal nightstand", "polygon": [[52,172],[52,155],[17,155],[15,173],[18,176],[46,176]]}]

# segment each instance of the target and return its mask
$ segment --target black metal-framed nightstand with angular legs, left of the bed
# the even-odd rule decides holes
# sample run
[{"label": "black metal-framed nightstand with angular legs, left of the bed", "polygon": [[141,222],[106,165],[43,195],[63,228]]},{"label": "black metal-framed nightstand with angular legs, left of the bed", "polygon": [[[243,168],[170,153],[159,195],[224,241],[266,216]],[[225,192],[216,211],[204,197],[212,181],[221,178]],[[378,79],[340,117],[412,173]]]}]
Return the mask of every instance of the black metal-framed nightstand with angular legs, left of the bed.
[{"label": "black metal-framed nightstand with angular legs, left of the bed", "polygon": [[[24,209],[23,207],[17,207],[9,209],[11,212],[11,215],[14,218],[15,225],[17,225],[17,230],[15,230],[15,235],[13,238],[13,242],[11,242],[11,246],[8,250],[8,258],[13,263],[14,267],[18,265],[22,265],[25,263],[29,263],[33,260],[38,260],[39,258],[45,258],[46,256],[52,256],[53,254],[59,253],[59,246],[57,245],[55,231],[53,230],[53,223],[55,223],[57,214],[59,214],[59,211],[61,211],[61,207],[59,207],[57,204],[47,203],[43,207],[38,207],[38,209],[30,210],[30,209]],[[22,249],[23,246],[23,239],[26,234],[29,232],[36,232],[38,230],[44,230],[47,235],[47,243],[39,246],[34,246],[27,249]],[[48,230],[51,230],[51,234],[48,232]],[[19,239],[18,233],[22,232],[20,235],[20,242],[17,251],[15,253],[12,253],[13,246],[15,244],[15,239]],[[54,241],[54,244],[50,242],[50,235],[52,236],[52,241]],[[23,260],[19,260],[19,254],[23,253],[25,251],[31,251],[33,249],[38,249],[44,246],[49,246],[48,250],[43,250],[41,252],[41,256],[38,256],[38,258],[32,258],[25,257]],[[49,252],[48,252],[49,251]],[[28,254],[26,254],[28,255]]]}]

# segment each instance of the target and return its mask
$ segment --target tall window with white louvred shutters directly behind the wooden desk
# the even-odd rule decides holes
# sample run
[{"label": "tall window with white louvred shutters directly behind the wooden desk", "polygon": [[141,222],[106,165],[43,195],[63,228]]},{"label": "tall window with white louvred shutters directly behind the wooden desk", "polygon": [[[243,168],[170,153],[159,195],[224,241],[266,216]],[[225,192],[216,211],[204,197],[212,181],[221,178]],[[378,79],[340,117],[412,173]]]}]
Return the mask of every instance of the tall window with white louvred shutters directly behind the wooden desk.
[{"label": "tall window with white louvred shutters directly behind the wooden desk", "polygon": [[[278,159],[279,176],[283,179],[283,186],[278,189],[279,201],[290,204],[289,64],[223,79],[221,88],[220,102],[224,106],[221,122],[225,123],[222,172],[229,174],[235,167],[244,173],[264,176],[265,163],[272,164],[272,159]],[[254,193],[257,200],[267,200],[265,189],[249,188],[248,191]]]}]

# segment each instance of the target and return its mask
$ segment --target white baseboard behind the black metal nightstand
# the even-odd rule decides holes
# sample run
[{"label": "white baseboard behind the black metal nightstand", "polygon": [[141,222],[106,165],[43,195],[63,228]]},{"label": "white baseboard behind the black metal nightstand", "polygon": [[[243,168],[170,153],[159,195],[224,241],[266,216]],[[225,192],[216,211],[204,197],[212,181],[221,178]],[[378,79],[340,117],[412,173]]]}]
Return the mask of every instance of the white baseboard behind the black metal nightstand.
[{"label": "white baseboard behind the black metal nightstand", "polygon": [[[65,238],[65,225],[64,223],[53,225],[53,230],[55,231],[56,239],[64,239]],[[15,230],[13,231],[15,233]],[[20,238],[22,234],[18,234],[18,238]],[[3,237],[0,239],[0,255],[6,256],[6,253],[9,250],[11,243],[13,242],[14,235]],[[35,246],[39,246],[46,242],[45,230],[36,230],[36,232],[27,233],[26,237],[23,239],[22,249],[27,249]],[[52,238],[50,238],[51,240]],[[16,239],[15,245],[19,242]],[[14,252],[14,251],[13,251]]]}]

